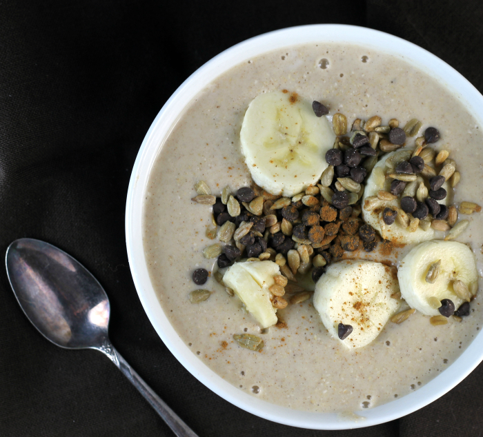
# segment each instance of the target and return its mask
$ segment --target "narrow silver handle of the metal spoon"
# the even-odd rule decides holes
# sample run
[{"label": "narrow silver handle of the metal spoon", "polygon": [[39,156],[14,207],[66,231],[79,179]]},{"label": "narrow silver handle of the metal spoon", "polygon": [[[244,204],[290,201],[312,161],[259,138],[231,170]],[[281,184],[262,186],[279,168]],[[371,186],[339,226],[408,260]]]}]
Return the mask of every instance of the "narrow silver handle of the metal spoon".
[{"label": "narrow silver handle of the metal spoon", "polygon": [[172,411],[168,405],[152,391],[151,387],[147,385],[139,376],[135,369],[128,364],[128,362],[117,352],[114,346],[109,341],[106,341],[99,349],[103,354],[106,354],[117,368],[130,380],[139,393],[150,403],[151,407],[155,409],[157,414],[168,424],[168,427],[177,435],[177,437],[198,437],[186,423],[177,416],[175,411]]}]

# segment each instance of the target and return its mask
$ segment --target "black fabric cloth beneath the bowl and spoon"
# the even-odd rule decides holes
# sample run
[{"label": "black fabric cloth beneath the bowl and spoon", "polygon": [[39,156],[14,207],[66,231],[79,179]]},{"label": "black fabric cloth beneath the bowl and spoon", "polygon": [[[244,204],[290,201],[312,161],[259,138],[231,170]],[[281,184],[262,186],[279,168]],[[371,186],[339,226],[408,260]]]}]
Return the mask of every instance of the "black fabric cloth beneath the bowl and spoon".
[{"label": "black fabric cloth beneath the bowl and spoon", "polygon": [[[308,23],[367,26],[421,45],[482,92],[482,22],[481,0],[0,0],[0,254],[29,236],[86,265],[110,297],[112,343],[200,437],[480,436],[482,365],[414,414],[349,431],[277,425],[219,398],[170,354],[139,303],[124,207],[157,112],[231,45]],[[0,436],[172,434],[102,354],[41,337],[1,267]]]}]

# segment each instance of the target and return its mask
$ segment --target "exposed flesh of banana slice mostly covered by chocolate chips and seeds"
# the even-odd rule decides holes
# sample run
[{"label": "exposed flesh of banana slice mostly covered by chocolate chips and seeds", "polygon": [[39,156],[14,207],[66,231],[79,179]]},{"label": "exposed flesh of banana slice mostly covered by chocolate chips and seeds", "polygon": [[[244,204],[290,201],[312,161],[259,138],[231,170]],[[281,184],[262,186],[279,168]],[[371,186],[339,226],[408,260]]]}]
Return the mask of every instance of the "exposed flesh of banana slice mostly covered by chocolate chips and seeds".
[{"label": "exposed flesh of banana slice mostly covered by chocolate chips and seeds", "polygon": [[[393,181],[393,179],[382,179],[380,171],[382,170],[382,172],[385,175],[386,170],[388,170],[388,167],[386,166],[387,159],[391,158],[391,156],[394,156],[395,154],[403,155],[404,152],[406,152],[407,154],[406,156],[411,157],[411,153],[413,152],[413,149],[397,150],[395,152],[388,153],[384,155],[382,159],[374,166],[373,171],[371,172],[371,175],[367,179],[366,187],[364,189],[364,195],[362,196],[362,203],[361,203],[362,216],[364,217],[364,221],[368,223],[368,225],[371,225],[375,230],[377,230],[377,232],[379,232],[383,238],[386,238],[387,240],[391,240],[393,241],[393,243],[411,244],[411,243],[421,243],[422,241],[433,240],[434,238],[436,238],[437,234],[432,227],[430,227],[426,231],[418,227],[415,232],[410,232],[408,228],[401,227],[397,223],[397,221],[393,223],[393,225],[388,226],[383,235],[381,233],[381,227],[380,227],[380,221],[379,221],[381,212],[379,210],[366,211],[364,209],[364,201],[366,200],[367,197],[377,196],[377,192],[379,190],[384,190],[387,192],[391,191],[391,181]],[[376,169],[380,169],[380,170],[376,170]],[[443,188],[448,193],[451,192],[451,190],[449,189],[448,182],[445,182],[443,184]],[[448,196],[446,196],[446,198],[443,199],[442,201],[438,201],[438,203],[441,203],[442,205],[448,205],[449,195],[450,194],[448,194]],[[384,207],[390,207],[393,209],[395,209],[396,207],[400,208],[401,207],[400,201],[401,199],[395,199],[393,201],[384,201]]]}]

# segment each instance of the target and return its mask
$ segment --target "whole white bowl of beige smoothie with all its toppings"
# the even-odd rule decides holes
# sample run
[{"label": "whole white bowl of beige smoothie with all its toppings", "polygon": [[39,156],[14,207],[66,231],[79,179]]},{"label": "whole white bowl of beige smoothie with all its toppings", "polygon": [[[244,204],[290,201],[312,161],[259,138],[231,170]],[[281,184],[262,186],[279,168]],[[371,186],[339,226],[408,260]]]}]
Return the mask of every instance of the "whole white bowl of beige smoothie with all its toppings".
[{"label": "whole white bowl of beige smoothie with all its toppings", "polygon": [[141,303],[188,371],[286,425],[383,423],[483,358],[483,97],[382,32],[264,34],[173,94],[132,171]]}]

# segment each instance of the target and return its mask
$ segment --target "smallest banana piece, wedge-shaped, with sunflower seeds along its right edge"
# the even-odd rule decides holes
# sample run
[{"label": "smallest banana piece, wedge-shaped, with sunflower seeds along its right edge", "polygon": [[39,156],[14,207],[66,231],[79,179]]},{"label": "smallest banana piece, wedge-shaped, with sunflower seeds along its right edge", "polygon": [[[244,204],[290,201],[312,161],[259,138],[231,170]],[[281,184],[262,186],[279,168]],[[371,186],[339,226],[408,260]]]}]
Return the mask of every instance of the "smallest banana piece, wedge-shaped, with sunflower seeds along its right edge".
[{"label": "smallest banana piece, wedge-shaped, with sunflower seeds along its right edge", "polygon": [[233,264],[223,276],[224,284],[233,289],[262,328],[277,323],[277,309],[272,306],[268,290],[277,274],[280,274],[279,266],[272,261],[250,261]]}]

